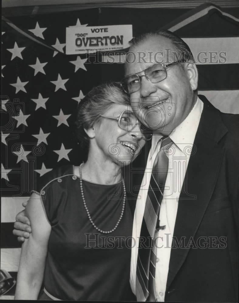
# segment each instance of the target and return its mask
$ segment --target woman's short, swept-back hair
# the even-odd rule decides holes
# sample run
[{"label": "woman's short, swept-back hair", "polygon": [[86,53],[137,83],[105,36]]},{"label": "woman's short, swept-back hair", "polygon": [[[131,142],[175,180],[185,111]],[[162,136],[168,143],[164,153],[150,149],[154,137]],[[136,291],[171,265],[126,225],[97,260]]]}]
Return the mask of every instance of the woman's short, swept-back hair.
[{"label": "woman's short, swept-back hair", "polygon": [[95,123],[100,122],[102,117],[99,115],[104,115],[115,103],[124,105],[130,103],[129,95],[123,91],[119,82],[106,82],[98,85],[92,88],[80,101],[77,109],[75,133],[84,153],[84,161],[87,160],[90,146],[90,138],[84,128],[89,129]]}]

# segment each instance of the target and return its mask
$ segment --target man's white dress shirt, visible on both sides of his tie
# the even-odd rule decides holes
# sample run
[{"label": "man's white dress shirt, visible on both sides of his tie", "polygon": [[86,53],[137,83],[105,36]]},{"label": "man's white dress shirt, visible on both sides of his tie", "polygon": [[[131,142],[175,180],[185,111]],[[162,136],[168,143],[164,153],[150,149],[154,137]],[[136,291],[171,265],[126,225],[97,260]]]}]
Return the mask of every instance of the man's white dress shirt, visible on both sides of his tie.
[{"label": "man's white dress shirt, visible on both sides of his tie", "polygon": [[[166,225],[164,230],[159,230],[159,238],[157,243],[157,259],[155,271],[155,290],[157,300],[164,302],[166,283],[169,271],[169,259],[171,253],[172,236],[176,221],[178,200],[182,189],[188,161],[192,152],[194,152],[193,142],[199,125],[200,117],[203,111],[203,102],[197,98],[189,115],[184,121],[178,125],[169,135],[173,144],[171,152],[169,152],[169,168],[165,183],[165,190],[161,202],[159,220],[160,226]],[[138,193],[138,199],[135,207],[135,215],[133,222],[133,238],[136,245],[131,250],[131,271],[130,284],[134,294],[136,294],[136,268],[138,258],[138,243],[144,215],[145,203],[149,189],[151,171],[159,152],[162,136],[154,135],[152,137],[152,146],[149,151],[148,161],[145,173]]]}]

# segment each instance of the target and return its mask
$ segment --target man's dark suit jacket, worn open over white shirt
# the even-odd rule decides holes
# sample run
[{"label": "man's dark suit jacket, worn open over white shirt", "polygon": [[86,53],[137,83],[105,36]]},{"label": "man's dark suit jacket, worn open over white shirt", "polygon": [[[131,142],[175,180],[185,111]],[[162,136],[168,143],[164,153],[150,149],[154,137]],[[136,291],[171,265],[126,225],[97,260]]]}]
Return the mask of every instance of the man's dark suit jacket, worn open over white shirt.
[{"label": "man's dark suit jacket, worn open over white shirt", "polygon": [[[165,301],[236,302],[238,115],[199,97],[204,106],[179,196]],[[149,149],[131,165],[134,197]]]}]

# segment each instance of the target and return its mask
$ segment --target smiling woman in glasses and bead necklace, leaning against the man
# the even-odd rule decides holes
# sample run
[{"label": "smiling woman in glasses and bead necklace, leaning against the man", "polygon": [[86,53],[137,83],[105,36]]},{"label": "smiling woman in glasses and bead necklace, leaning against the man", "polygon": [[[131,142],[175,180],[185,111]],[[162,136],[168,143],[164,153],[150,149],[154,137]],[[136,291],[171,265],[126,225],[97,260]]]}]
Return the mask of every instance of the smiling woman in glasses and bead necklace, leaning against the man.
[{"label": "smiling woman in glasses and bead necklace, leaning against the man", "polygon": [[128,102],[118,83],[99,85],[80,102],[76,133],[87,159],[46,174],[29,199],[32,233],[22,245],[15,299],[132,300],[132,214],[121,167],[145,141]]}]

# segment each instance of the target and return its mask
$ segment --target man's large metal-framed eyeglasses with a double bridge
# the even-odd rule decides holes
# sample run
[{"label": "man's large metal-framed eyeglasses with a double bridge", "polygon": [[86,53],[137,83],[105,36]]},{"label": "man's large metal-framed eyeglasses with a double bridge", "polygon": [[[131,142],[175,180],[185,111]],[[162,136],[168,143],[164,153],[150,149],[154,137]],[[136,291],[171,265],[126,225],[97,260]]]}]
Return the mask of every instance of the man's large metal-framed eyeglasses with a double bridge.
[{"label": "man's large metal-framed eyeglasses with a double bridge", "polygon": [[[138,74],[129,75],[121,80],[121,86],[127,94],[132,94],[137,92],[141,87],[141,78],[146,77],[148,81],[151,83],[158,83],[167,78],[167,71],[166,68],[169,66],[178,64],[181,62],[172,62],[169,64],[154,64],[146,68],[143,72],[145,73],[142,76]],[[141,72],[140,72],[141,73]]]}]

